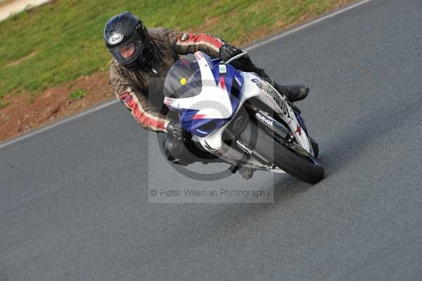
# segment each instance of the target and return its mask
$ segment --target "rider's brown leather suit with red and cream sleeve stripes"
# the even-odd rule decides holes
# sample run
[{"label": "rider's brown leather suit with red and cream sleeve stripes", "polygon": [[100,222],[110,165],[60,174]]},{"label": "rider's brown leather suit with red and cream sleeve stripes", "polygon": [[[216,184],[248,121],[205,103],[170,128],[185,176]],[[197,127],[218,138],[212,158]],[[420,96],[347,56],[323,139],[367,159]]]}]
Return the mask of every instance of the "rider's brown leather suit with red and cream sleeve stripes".
[{"label": "rider's brown leather suit with red and cream sleeve stripes", "polygon": [[[129,108],[134,118],[147,130],[167,132],[167,125],[172,119],[168,108],[164,106],[163,86],[170,67],[179,56],[203,51],[212,58],[219,58],[219,49],[226,44],[215,35],[199,33],[182,33],[166,28],[148,29],[149,39],[153,43],[152,67],[149,70],[129,70],[116,61],[110,65],[110,80],[117,99]],[[248,55],[234,61],[234,67],[239,70],[255,72],[264,80],[274,85],[272,80],[261,68],[257,68]],[[177,119],[177,118],[174,118]],[[207,151],[196,149],[191,142],[172,139],[167,134],[160,134],[162,148],[169,161],[188,165],[195,161],[208,163],[218,161],[217,157]],[[183,140],[182,140],[183,141]],[[188,156],[186,150],[196,156]]]}]

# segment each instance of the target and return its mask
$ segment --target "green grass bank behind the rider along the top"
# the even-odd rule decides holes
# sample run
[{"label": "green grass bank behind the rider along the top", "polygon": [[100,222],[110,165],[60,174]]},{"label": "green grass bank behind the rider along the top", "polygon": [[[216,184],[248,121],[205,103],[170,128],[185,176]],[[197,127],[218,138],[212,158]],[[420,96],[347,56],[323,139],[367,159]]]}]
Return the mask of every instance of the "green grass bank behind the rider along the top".
[{"label": "green grass bank behind the rider along the top", "polygon": [[139,15],[147,27],[181,31],[218,18],[201,30],[241,43],[251,30],[274,31],[280,23],[323,13],[336,1],[53,1],[0,22],[0,101],[5,94],[37,96],[47,87],[107,70],[110,54],[103,44],[103,27],[121,11]]}]

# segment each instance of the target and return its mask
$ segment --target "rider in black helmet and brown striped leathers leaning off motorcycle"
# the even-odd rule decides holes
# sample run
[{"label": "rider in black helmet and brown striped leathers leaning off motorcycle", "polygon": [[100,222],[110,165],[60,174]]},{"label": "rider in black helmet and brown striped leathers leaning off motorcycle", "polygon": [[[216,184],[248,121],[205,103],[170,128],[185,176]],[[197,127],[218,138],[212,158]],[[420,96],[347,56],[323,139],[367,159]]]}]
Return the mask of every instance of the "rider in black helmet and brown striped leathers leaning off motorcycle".
[{"label": "rider in black helmet and brown striped leathers leaning off motorcycle", "polygon": [[[198,149],[182,138],[177,118],[167,114],[163,104],[164,78],[180,55],[203,51],[212,58],[229,58],[241,54],[241,49],[226,44],[215,35],[182,33],[166,28],[146,29],[136,15],[124,12],[110,18],[104,27],[103,39],[113,56],[110,80],[113,90],[142,127],[160,134],[162,147],[169,161],[187,166],[201,161],[218,161],[207,151]],[[248,55],[231,63],[235,68],[257,73],[289,101],[305,99],[309,92],[306,85],[284,86],[277,84],[262,68],[257,68]],[[196,156],[187,153],[193,152]],[[248,179],[253,170],[241,167],[239,173]]]}]

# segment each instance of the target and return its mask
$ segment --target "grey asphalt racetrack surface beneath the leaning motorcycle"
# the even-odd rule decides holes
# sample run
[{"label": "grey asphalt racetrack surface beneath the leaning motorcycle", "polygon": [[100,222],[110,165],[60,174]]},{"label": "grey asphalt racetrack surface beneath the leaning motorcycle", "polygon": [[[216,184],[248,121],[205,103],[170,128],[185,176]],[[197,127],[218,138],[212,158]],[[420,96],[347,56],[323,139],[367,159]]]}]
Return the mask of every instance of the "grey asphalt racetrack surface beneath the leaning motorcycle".
[{"label": "grey asphalt racetrack surface beneath the leaning motorcycle", "polygon": [[250,51],[312,86],[326,179],[202,185],[272,204],[148,204],[189,180],[120,104],[2,147],[0,280],[422,280],[421,18],[373,0]]}]

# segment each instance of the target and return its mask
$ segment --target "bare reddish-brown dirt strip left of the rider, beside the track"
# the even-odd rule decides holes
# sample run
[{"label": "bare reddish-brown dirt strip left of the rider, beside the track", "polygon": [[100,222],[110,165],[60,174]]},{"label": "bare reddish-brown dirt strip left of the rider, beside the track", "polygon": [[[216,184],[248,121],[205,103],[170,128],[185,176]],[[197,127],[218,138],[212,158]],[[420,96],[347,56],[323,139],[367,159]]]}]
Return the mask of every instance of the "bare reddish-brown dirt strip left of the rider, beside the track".
[{"label": "bare reddish-brown dirt strip left of the rider, beside the track", "polygon": [[[80,99],[70,99],[70,94],[78,89],[87,94]],[[34,100],[25,93],[6,97],[3,102],[8,106],[0,109],[0,141],[112,99],[112,93],[108,73],[94,73],[60,87],[46,89]]]}]

